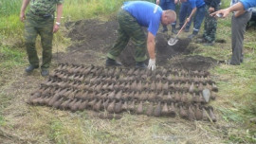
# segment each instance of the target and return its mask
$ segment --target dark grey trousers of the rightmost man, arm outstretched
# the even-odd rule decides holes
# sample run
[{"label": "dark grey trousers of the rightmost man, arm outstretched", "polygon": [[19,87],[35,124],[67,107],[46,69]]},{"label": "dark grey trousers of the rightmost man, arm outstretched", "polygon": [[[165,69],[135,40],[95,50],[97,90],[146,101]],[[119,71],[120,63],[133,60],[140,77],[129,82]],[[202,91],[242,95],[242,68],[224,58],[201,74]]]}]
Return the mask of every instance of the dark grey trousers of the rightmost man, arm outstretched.
[{"label": "dark grey trousers of the rightmost man, arm outstretched", "polygon": [[232,16],[232,57],[231,64],[239,65],[243,62],[244,34],[251,12],[246,12],[239,17]]}]

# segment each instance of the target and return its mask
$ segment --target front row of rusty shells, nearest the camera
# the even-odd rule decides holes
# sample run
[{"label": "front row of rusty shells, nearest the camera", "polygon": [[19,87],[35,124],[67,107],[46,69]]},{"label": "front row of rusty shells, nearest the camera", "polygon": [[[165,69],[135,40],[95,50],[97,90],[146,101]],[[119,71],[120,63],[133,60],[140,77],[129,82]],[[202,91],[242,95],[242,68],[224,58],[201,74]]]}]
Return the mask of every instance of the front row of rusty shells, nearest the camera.
[{"label": "front row of rusty shells, nearest the camera", "polygon": [[158,101],[145,102],[142,100],[117,100],[117,99],[66,99],[55,95],[54,97],[36,98],[31,97],[29,104],[47,105],[57,109],[71,110],[72,112],[85,109],[94,111],[107,111],[108,113],[119,114],[129,111],[137,115],[149,117],[176,117],[179,116],[189,120],[210,120],[216,121],[213,108],[199,104],[168,103]]}]

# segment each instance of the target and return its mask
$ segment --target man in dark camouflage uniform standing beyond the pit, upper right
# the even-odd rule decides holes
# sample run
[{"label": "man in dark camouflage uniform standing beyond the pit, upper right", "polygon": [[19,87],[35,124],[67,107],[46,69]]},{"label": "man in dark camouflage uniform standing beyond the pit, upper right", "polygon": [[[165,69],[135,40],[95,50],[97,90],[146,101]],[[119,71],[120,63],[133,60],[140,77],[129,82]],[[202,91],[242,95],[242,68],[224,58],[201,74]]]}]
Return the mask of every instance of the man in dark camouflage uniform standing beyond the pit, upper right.
[{"label": "man in dark camouflage uniform standing beyond the pit, upper right", "polygon": [[205,15],[205,29],[202,42],[205,45],[214,45],[217,20],[215,17],[210,16],[210,13],[219,9],[220,0],[205,0],[205,3],[207,12]]}]

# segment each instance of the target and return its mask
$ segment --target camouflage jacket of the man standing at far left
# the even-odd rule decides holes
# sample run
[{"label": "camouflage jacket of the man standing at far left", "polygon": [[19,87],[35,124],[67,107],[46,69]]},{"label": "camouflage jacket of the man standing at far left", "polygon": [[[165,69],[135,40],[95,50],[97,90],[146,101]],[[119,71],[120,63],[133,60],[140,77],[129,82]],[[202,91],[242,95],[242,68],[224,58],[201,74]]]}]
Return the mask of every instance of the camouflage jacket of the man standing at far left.
[{"label": "camouflage jacket of the man standing at far left", "polygon": [[30,0],[30,12],[36,15],[53,14],[57,4],[64,0]]}]

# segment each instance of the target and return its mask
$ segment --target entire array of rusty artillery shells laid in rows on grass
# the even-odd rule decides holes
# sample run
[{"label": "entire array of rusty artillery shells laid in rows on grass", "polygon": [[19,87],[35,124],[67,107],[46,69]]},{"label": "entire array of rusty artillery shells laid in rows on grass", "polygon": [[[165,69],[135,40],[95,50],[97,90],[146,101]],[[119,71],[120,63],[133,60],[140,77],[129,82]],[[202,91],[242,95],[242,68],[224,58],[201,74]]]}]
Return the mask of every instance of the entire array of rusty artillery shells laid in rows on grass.
[{"label": "entire array of rusty artillery shells laid in rows on grass", "polygon": [[207,71],[62,63],[27,102],[72,112],[129,111],[153,117],[216,121],[213,108],[206,104],[215,99],[217,91]]}]

